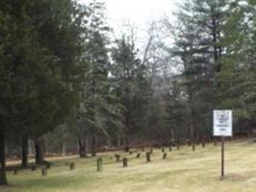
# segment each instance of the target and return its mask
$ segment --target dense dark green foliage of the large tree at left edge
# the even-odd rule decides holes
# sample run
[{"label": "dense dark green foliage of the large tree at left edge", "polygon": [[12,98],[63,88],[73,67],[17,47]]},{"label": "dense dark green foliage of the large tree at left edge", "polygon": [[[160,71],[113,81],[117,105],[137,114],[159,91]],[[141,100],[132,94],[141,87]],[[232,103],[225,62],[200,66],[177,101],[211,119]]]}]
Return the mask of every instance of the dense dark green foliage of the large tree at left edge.
[{"label": "dense dark green foliage of the large tree at left edge", "polygon": [[83,15],[71,0],[0,2],[1,135],[38,138],[76,106]]}]

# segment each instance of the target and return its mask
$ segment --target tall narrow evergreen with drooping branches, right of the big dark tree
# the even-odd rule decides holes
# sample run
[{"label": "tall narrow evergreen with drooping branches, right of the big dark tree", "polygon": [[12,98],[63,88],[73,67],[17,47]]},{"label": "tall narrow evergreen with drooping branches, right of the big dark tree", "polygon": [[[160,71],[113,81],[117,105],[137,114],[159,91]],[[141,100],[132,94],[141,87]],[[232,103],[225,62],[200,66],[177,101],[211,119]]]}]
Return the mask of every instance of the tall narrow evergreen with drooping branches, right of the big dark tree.
[{"label": "tall narrow evergreen with drooping branches, right of the big dark tree", "polygon": [[[86,51],[83,62],[87,66],[84,74],[81,104],[77,111],[77,130],[82,150],[83,142],[91,137],[91,155],[95,156],[97,136],[109,137],[109,128],[119,125],[118,100],[112,92],[113,84],[109,79],[110,60],[108,56],[109,27],[105,21],[105,6],[97,1],[88,6],[89,22],[87,23]],[[114,129],[116,131],[116,129]]]}]

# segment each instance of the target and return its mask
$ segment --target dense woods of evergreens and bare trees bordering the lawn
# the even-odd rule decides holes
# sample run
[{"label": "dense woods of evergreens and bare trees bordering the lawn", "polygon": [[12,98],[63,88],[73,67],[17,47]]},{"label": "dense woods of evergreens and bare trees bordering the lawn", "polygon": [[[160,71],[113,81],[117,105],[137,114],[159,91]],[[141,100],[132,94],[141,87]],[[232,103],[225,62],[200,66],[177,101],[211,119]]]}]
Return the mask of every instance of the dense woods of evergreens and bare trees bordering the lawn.
[{"label": "dense woods of evergreens and bare trees bordering the lawn", "polygon": [[[113,39],[105,5],[0,1],[0,185],[6,156],[96,156],[212,137],[213,109],[235,135],[256,128],[256,1],[184,1],[138,48]],[[173,42],[168,39],[173,38]]]}]

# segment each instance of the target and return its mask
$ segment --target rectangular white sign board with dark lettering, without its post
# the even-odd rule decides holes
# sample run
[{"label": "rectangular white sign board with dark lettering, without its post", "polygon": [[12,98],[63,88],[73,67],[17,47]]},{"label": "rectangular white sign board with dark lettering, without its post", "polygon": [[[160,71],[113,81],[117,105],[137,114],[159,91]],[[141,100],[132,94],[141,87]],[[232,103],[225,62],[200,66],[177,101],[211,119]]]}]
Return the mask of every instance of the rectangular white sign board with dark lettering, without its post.
[{"label": "rectangular white sign board with dark lettering, without its post", "polygon": [[214,135],[232,136],[232,110],[214,110]]}]

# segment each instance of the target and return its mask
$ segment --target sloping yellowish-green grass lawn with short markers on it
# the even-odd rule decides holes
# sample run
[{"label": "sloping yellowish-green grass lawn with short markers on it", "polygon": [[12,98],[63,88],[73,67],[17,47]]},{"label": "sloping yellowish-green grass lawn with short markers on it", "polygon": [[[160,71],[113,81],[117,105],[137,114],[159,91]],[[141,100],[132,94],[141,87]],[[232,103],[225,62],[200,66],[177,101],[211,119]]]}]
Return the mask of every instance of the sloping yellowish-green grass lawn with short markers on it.
[{"label": "sloping yellowish-green grass lawn with short markers on it", "polygon": [[[40,169],[8,173],[10,187],[1,192],[255,192],[256,143],[248,141],[226,143],[226,178],[219,180],[220,145],[198,146],[195,152],[187,146],[163,153],[154,149],[152,161],[119,152],[129,158],[128,167],[115,162],[115,153],[100,154],[103,172],[96,172],[96,158],[54,160],[47,177]],[[75,162],[70,171],[65,162]]]}]

